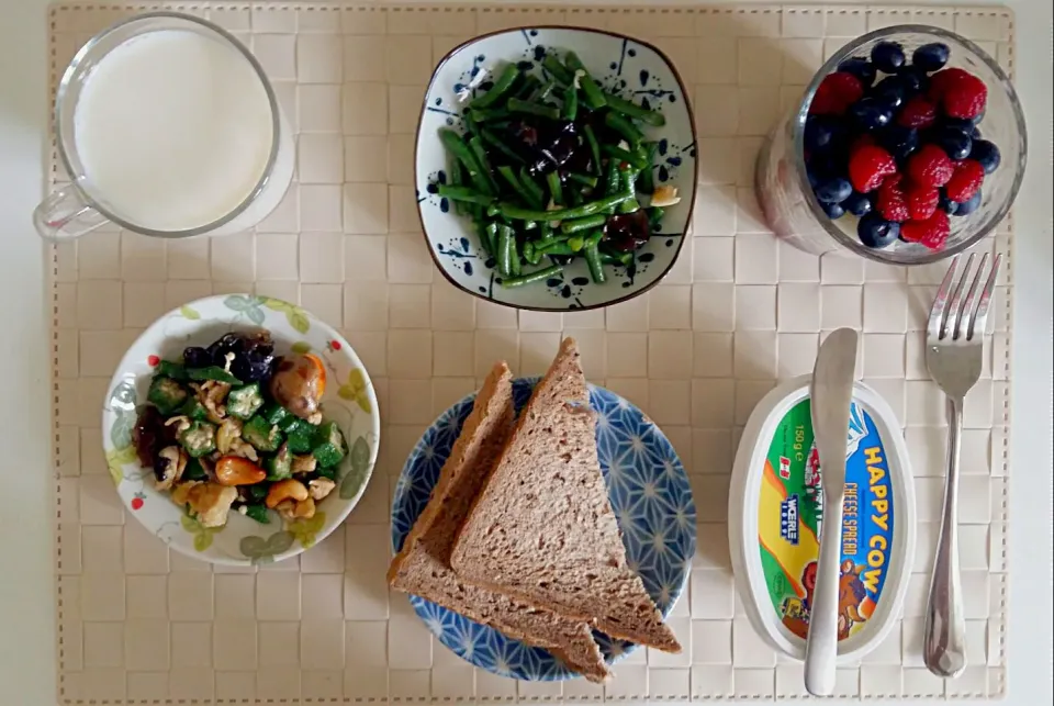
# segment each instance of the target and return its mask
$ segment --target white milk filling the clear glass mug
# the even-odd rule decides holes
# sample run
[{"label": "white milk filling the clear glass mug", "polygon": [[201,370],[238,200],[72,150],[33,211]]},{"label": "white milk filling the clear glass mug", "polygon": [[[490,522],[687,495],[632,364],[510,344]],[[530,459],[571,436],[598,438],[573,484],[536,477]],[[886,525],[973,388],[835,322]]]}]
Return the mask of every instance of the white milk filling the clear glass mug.
[{"label": "white milk filling the clear glass mug", "polygon": [[[264,176],[273,134],[267,92],[233,46],[189,30],[133,37],[91,69],[74,111],[82,186],[117,217],[186,231],[238,208]],[[282,142],[291,141],[285,130]],[[254,225],[292,175],[280,149],[265,193],[224,231]]]}]

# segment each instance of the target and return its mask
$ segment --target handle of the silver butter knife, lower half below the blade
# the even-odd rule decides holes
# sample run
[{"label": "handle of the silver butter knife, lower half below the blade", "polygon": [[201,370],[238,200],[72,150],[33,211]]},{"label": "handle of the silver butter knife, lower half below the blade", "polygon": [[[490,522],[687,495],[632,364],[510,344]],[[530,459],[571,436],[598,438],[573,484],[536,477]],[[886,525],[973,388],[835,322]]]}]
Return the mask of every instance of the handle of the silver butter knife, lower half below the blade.
[{"label": "handle of the silver butter knife, lower half below the blade", "polygon": [[838,579],[842,553],[843,497],[823,502],[816,589],[809,606],[809,637],[805,642],[805,688],[814,696],[834,693],[838,661]]}]

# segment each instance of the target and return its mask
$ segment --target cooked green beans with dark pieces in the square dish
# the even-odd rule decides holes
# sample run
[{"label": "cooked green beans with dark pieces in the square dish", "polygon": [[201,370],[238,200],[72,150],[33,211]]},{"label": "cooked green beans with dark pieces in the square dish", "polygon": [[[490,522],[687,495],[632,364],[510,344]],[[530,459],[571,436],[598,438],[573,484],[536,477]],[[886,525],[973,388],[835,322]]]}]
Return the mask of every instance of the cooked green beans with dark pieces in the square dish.
[{"label": "cooked green beans with dark pieces in the square dish", "polygon": [[542,68],[508,64],[468,102],[463,135],[440,128],[449,178],[435,190],[471,216],[503,287],[558,276],[576,257],[602,283],[680,201],[654,184],[658,143],[643,132],[665,119],[603,90],[574,52],[549,49]]}]

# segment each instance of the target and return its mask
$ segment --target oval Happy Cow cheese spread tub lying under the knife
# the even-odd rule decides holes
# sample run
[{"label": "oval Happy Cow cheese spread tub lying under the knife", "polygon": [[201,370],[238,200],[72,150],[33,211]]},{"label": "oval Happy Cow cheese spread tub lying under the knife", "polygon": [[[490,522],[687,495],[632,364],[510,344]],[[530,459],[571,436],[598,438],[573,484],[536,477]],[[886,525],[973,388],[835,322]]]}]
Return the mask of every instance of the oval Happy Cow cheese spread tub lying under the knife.
[{"label": "oval Happy Cow cheese spread tub lying under the knife", "polygon": [[[729,489],[736,587],[754,629],[801,660],[822,526],[809,380],[758,403],[743,429]],[[915,489],[900,425],[878,394],[855,383],[845,448],[839,580],[839,662],[857,660],[896,625],[915,554]]]}]

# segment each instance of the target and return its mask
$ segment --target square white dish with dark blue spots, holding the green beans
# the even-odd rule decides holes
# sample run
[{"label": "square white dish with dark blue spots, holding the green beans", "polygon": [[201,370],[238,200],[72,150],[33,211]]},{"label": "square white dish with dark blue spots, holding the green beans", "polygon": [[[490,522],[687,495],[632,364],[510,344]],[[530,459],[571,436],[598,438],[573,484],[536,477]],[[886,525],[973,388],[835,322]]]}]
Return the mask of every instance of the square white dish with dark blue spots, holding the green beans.
[{"label": "square white dish with dark blue spots, holding the green beans", "polygon": [[[643,132],[647,139],[659,142],[651,167],[655,183],[676,187],[681,203],[666,209],[662,231],[652,234],[631,266],[607,268],[608,280],[603,284],[592,283],[583,258],[575,258],[560,277],[503,289],[495,282],[494,260],[481,250],[471,218],[457,215],[446,199],[431,193],[436,182],[446,179],[449,161],[439,128],[463,132],[467,101],[508,61],[530,67],[542,78],[541,63],[550,49],[561,56],[573,49],[605,90],[662,112],[666,124],[644,126]],[[431,76],[417,123],[417,209],[436,267],[469,294],[540,311],[607,306],[648,291],[673,267],[695,201],[695,123],[687,91],[673,64],[657,47],[621,34],[579,27],[496,32],[451,51]]]}]

